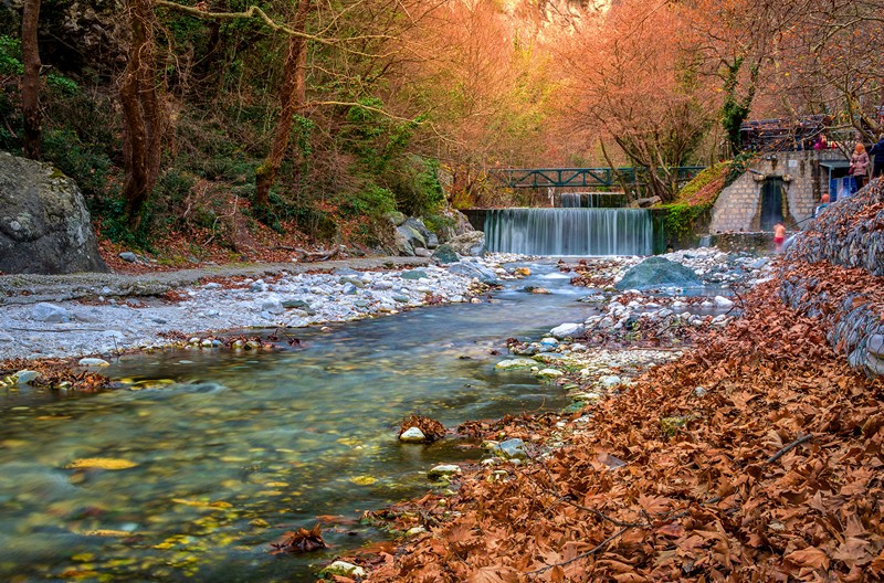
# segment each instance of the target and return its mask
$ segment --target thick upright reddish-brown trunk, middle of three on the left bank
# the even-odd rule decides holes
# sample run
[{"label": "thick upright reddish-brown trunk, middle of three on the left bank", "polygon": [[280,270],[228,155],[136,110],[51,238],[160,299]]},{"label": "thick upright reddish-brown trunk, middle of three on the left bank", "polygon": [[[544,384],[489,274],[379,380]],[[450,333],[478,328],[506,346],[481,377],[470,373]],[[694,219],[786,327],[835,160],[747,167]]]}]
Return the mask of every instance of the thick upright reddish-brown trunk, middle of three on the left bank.
[{"label": "thick upright reddish-brown trunk, middle of three on the left bank", "polygon": [[155,75],[152,2],[129,0],[127,8],[131,40],[119,85],[126,170],[123,197],[129,227],[137,230],[159,174],[162,123]]}]

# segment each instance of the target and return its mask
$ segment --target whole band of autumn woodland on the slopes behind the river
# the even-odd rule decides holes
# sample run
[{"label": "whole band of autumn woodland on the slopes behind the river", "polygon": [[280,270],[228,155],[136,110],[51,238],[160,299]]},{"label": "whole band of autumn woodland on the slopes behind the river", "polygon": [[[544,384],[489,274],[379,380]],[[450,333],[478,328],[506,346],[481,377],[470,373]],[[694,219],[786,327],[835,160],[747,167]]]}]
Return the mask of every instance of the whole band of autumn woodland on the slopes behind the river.
[{"label": "whole band of autumn woodland on the slopes behind the river", "polygon": [[876,141],[882,2],[55,0],[0,24],[0,149],[74,178],[105,236],[388,243],[383,215],[520,202],[506,167],[671,169],[754,118]]}]

